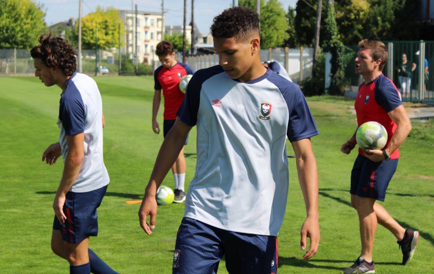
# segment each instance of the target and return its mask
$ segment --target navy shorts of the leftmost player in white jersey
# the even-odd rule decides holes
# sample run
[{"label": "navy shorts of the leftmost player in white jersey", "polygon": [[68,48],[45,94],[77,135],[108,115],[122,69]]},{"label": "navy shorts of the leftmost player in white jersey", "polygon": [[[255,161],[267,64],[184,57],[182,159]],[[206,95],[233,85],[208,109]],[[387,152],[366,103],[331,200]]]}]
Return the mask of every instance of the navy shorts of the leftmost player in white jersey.
[{"label": "navy shorts of the leftmost player in white jersey", "polygon": [[62,239],[70,244],[77,244],[89,236],[98,235],[98,216],[96,209],[101,204],[107,185],[89,192],[66,193],[63,213],[66,221],[60,224],[54,216],[53,230],[60,230]]}]

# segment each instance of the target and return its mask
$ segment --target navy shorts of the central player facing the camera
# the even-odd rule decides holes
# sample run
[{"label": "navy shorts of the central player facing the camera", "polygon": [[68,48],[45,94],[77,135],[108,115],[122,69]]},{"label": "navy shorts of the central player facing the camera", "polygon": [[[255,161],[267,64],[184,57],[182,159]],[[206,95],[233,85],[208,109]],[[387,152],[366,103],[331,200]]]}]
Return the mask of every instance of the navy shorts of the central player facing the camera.
[{"label": "navy shorts of the central player facing the camera", "polygon": [[277,237],[237,233],[183,218],[173,274],[216,274],[224,255],[229,274],[277,273]]}]

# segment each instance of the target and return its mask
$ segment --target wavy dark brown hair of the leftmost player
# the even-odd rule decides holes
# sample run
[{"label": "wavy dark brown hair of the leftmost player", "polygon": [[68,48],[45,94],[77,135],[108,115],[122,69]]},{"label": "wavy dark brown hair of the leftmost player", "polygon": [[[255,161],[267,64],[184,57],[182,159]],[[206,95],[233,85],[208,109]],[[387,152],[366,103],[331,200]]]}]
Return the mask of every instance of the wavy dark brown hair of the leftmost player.
[{"label": "wavy dark brown hair of the leftmost player", "polygon": [[47,67],[59,67],[66,76],[71,76],[77,69],[76,53],[67,40],[42,34],[40,45],[30,50],[32,58],[41,59]]}]

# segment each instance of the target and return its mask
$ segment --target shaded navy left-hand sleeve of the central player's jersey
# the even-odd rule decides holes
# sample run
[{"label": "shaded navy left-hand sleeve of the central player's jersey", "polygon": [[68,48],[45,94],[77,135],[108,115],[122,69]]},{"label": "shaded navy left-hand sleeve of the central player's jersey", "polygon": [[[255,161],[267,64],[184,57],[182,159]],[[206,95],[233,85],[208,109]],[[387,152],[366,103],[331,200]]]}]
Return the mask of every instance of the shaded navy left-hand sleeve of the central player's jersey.
[{"label": "shaded navy left-hand sleeve of the central player's jersey", "polygon": [[190,80],[183,104],[178,110],[177,116],[185,124],[194,127],[198,122],[199,104],[201,101],[202,84],[212,76],[223,72],[220,65],[198,70]]}]

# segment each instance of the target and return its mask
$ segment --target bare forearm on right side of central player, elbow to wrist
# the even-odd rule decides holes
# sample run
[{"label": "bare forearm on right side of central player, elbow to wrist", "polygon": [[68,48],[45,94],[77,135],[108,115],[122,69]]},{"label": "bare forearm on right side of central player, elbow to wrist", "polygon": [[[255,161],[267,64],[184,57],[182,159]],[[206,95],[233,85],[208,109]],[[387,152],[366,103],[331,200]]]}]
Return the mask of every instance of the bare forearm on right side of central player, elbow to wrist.
[{"label": "bare forearm on right side of central player, elbow to wrist", "polygon": [[306,214],[318,217],[318,171],[313,153],[297,159],[297,171]]}]

